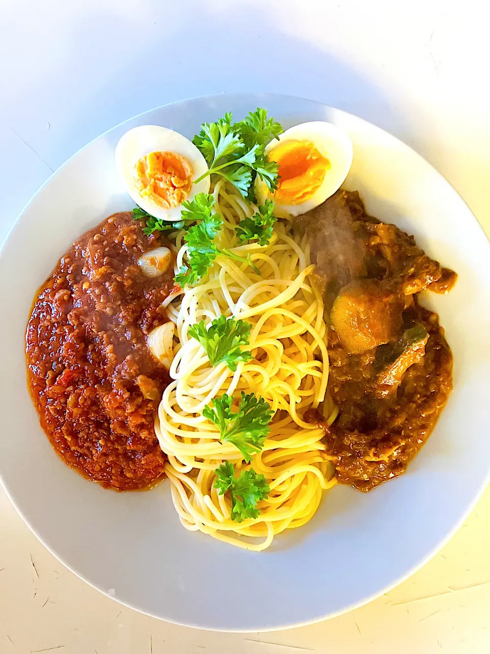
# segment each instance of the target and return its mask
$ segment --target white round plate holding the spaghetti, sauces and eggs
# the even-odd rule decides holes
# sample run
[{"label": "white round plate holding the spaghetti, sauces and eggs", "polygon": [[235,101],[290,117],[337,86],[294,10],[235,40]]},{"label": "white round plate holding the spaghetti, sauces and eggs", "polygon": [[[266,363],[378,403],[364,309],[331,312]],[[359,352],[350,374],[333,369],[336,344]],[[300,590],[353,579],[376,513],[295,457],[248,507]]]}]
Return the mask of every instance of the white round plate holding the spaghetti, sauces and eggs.
[{"label": "white round plate holding the spaghetti, sauces and eggs", "polygon": [[[39,426],[26,386],[24,332],[37,288],[74,239],[130,209],[114,170],[120,136],[144,124],[192,138],[203,121],[265,107],[285,128],[328,120],[351,137],[345,188],[372,215],[414,233],[459,274],[448,296],[427,295],[454,354],[454,390],[408,471],[368,494],[327,491],[308,525],[264,553],[180,525],[169,484],[116,493],[61,462]],[[3,366],[0,474],[42,543],[82,579],[139,611],[216,630],[293,627],[348,611],[412,574],[442,547],[487,483],[490,438],[490,245],[463,200],[429,163],[371,124],[284,95],[200,97],[148,111],[75,154],[18,218],[0,257]]]}]

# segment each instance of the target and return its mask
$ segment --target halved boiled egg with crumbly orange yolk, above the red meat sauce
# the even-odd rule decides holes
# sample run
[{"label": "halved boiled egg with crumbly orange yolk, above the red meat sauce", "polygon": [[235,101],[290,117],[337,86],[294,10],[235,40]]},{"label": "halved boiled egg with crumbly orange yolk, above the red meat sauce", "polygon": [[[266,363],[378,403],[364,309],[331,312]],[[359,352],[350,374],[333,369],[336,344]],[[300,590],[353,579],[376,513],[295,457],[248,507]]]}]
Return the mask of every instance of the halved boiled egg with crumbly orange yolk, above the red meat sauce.
[{"label": "halved boiled egg with crumbly orange yolk, above the red meat sauce", "polygon": [[116,169],[131,198],[161,220],[178,220],[184,200],[209,191],[208,171],[197,147],[172,129],[144,125],[127,131],[116,146]]}]

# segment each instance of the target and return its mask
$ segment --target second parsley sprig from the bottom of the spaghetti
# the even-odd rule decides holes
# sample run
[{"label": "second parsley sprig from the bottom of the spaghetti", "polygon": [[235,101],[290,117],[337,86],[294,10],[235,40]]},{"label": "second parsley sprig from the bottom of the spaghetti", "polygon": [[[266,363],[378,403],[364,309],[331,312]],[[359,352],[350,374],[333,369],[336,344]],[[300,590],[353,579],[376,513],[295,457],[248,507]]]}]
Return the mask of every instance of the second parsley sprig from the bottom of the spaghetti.
[{"label": "second parsley sprig from the bottom of the spaghetti", "polygon": [[214,409],[204,407],[203,416],[220,428],[220,441],[233,443],[250,463],[252,456],[263,448],[270,432],[269,422],[274,415],[270,404],[264,398],[257,400],[254,393],[246,395],[243,391],[238,411],[231,411],[233,397],[226,393],[212,402]]}]

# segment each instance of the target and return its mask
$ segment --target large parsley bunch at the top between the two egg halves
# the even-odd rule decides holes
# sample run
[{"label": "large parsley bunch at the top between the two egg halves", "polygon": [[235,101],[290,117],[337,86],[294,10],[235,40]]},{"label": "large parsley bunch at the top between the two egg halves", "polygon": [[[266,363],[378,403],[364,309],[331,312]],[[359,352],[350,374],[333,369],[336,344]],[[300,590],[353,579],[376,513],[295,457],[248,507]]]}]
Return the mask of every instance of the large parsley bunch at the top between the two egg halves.
[{"label": "large parsley bunch at the top between the two egg halves", "polygon": [[193,138],[194,145],[201,150],[209,166],[209,170],[194,183],[206,175],[220,175],[246,198],[250,196],[258,175],[269,190],[275,190],[278,165],[267,160],[264,148],[284,131],[282,126],[273,118],[267,118],[265,109],[250,112],[238,123],[231,121],[231,113],[227,113],[218,122],[203,123],[201,131]]}]

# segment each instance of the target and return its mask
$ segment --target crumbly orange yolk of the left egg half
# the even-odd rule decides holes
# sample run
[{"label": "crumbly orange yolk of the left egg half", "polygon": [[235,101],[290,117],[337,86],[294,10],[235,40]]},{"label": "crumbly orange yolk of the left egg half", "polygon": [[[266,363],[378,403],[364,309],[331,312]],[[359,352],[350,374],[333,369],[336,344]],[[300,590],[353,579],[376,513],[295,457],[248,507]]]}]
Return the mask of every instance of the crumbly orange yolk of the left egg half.
[{"label": "crumbly orange yolk of the left egg half", "polygon": [[192,188],[193,170],[176,152],[150,152],[135,165],[135,186],[142,198],[164,209],[178,207]]}]

